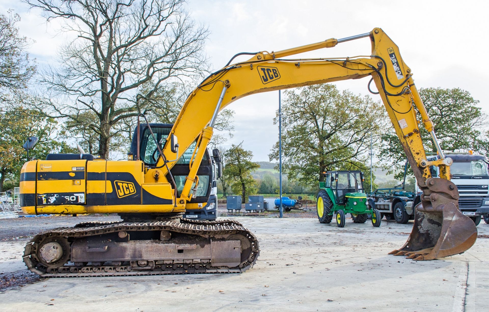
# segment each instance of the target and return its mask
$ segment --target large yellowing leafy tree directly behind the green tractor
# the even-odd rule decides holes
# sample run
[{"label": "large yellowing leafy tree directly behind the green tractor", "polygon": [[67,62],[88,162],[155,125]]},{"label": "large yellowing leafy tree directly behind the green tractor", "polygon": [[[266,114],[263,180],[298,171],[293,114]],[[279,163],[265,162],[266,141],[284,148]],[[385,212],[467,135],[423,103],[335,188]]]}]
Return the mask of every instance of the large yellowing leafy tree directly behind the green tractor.
[{"label": "large yellowing leafy tree directly behind the green tractor", "polygon": [[[316,84],[284,92],[282,170],[304,187],[323,181],[323,171],[363,162],[370,134],[379,135],[384,108],[333,84]],[[275,122],[278,119],[275,118]],[[278,159],[278,142],[268,155]]]}]

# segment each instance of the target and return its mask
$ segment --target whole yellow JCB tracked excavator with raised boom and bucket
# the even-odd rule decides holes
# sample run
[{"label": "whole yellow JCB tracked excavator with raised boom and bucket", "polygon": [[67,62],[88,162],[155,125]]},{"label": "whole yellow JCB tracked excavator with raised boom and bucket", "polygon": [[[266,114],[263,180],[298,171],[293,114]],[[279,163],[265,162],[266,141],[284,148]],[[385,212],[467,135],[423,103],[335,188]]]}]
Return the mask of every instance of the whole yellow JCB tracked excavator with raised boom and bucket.
[{"label": "whole yellow JCB tracked excavator with raised boom and bucket", "polygon": [[[364,37],[372,42],[368,56],[284,59]],[[240,55],[251,58],[232,63]],[[20,180],[24,213],[118,213],[121,220],[39,233],[26,245],[23,260],[44,277],[247,270],[260,251],[249,230],[232,220],[181,218],[185,210],[206,205],[195,201],[202,184],[199,168],[208,166],[210,158],[221,161],[217,151],[212,156],[207,152],[219,111],[249,94],[363,77],[371,78],[369,89],[372,81],[377,86],[422,189],[412,232],[405,245],[391,253],[429,260],[464,252],[475,243],[477,229],[458,209],[459,192],[450,182],[452,160],[440,148],[412,75],[397,45],[380,28],[277,52],[236,54],[188,96],[169,132],[153,131],[146,122],[143,136],[137,127],[132,159],[108,161],[81,152],[25,163]],[[416,111],[440,160],[426,159]],[[27,151],[35,141],[26,142]],[[180,168],[180,179],[175,179],[172,170],[184,155],[188,166],[186,171]],[[431,177],[429,166],[438,166],[440,177]]]}]

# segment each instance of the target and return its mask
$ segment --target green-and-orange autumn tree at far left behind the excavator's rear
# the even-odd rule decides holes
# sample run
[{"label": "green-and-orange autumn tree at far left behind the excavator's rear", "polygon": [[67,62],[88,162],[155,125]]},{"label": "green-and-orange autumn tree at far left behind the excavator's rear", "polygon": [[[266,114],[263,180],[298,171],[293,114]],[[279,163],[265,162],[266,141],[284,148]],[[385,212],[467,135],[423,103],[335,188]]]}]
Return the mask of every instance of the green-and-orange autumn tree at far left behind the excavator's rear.
[{"label": "green-and-orange autumn tree at far left behind the excavator's rear", "polygon": [[18,176],[27,155],[22,145],[31,136],[39,138],[34,149],[29,150],[29,156],[45,159],[49,153],[70,153],[75,149],[65,142],[52,139],[56,132],[57,123],[52,118],[45,118],[35,110],[22,107],[11,108],[0,112],[0,192],[3,191],[5,179],[9,186],[18,185]]}]

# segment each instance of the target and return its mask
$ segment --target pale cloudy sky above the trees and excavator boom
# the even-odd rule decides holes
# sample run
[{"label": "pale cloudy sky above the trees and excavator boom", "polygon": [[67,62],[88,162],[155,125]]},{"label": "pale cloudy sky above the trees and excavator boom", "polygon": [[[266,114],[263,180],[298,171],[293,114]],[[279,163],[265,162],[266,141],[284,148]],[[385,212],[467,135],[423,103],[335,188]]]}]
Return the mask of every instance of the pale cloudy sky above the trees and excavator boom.
[{"label": "pale cloudy sky above the trees and excavator boom", "polygon": [[[489,1],[412,0],[189,0],[195,21],[208,27],[206,54],[214,70],[222,68],[238,52],[277,51],[295,46],[344,38],[382,28],[399,46],[412,69],[416,86],[460,87],[480,101],[489,113],[484,60],[489,51]],[[35,42],[29,48],[39,66],[52,64],[58,47],[67,37],[55,31],[57,22],[46,24],[37,10],[21,1],[0,1],[0,12],[14,9],[22,21],[20,33]],[[334,48],[301,54],[300,57],[346,57],[369,55],[368,38],[338,44]],[[236,61],[244,61],[246,57]],[[360,95],[371,95],[369,79],[335,83]],[[380,100],[376,95],[371,95]],[[278,140],[273,118],[278,91],[242,98],[228,106],[236,111],[234,136],[224,146],[243,142],[254,161],[268,161]]]}]

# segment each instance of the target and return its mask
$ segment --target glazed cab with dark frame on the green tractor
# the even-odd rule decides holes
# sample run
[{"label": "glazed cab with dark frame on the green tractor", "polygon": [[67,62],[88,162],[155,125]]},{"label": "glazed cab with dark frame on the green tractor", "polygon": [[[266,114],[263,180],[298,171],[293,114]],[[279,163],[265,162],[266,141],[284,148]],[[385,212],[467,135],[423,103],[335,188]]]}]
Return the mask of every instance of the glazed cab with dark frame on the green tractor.
[{"label": "glazed cab with dark frame on the green tractor", "polygon": [[[324,187],[333,191],[337,205],[345,205],[349,198],[365,196],[363,193],[363,174],[361,171],[328,171],[324,173]],[[321,182],[319,183],[321,187]]]}]

